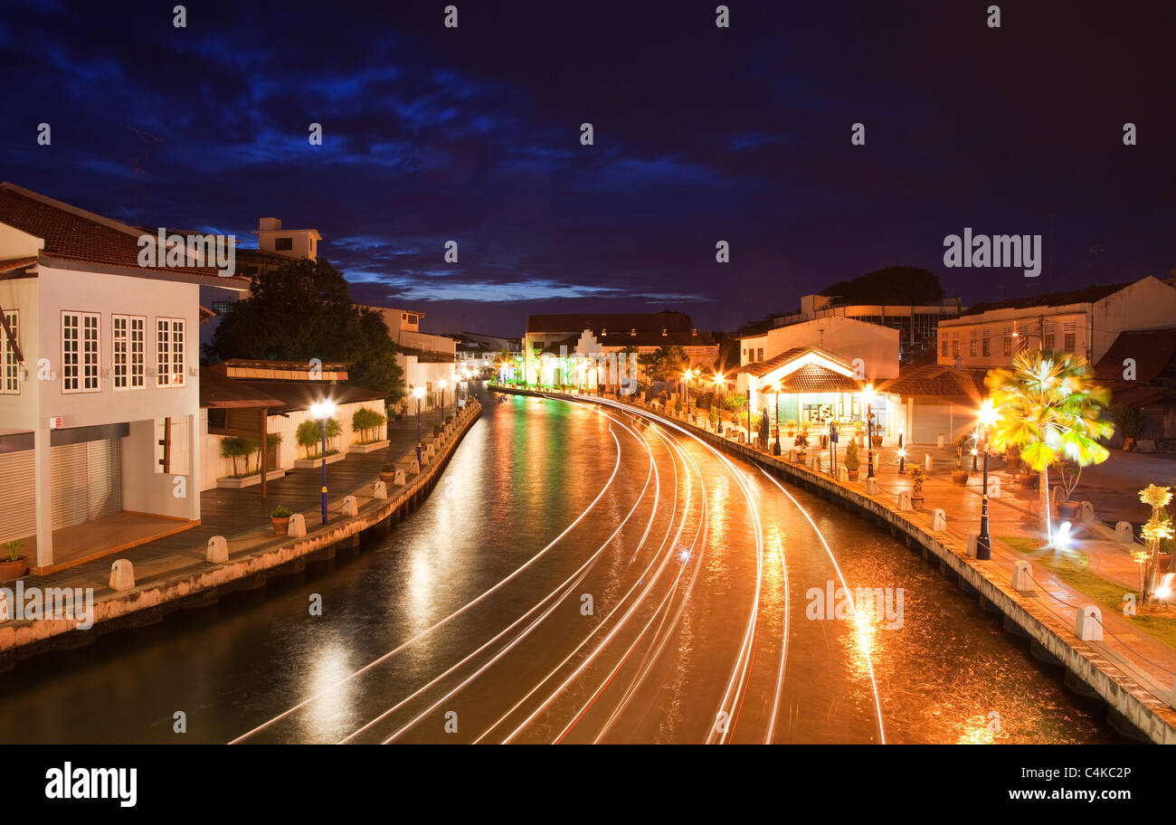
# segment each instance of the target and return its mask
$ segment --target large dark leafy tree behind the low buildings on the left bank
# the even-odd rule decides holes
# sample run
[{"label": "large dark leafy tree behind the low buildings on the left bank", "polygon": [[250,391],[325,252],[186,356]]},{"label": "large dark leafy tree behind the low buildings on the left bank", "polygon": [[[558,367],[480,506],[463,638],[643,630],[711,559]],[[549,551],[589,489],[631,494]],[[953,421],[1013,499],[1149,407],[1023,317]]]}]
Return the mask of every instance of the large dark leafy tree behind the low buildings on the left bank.
[{"label": "large dark leafy tree behind the low buildings on the left bank", "polygon": [[354,362],[347,383],[399,397],[403,376],[383,316],[352,303],[347,287],[323,259],[255,274],[249,297],[221,320],[208,354],[222,361]]}]

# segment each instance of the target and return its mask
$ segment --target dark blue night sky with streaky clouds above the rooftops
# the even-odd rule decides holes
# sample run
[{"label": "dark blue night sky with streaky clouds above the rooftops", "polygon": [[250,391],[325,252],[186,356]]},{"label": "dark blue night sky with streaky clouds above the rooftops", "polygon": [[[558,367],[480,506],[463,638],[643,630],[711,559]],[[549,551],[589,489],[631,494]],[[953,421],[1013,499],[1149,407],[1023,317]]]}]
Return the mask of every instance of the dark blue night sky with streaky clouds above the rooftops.
[{"label": "dark blue night sky with streaky clouds above the rooftops", "polygon": [[[965,302],[1176,268],[1169,0],[1001,2],[1000,29],[970,0],[736,0],[727,29],[710,0],[453,2],[456,29],[432,0],[200,0],[178,29],[172,0],[8,0],[0,176],[246,246],[263,215],[315,227],[358,299],[430,331],[734,328],[888,264]],[[165,141],[141,213],[132,127]],[[965,226],[1041,234],[1042,276],[946,269]]]}]

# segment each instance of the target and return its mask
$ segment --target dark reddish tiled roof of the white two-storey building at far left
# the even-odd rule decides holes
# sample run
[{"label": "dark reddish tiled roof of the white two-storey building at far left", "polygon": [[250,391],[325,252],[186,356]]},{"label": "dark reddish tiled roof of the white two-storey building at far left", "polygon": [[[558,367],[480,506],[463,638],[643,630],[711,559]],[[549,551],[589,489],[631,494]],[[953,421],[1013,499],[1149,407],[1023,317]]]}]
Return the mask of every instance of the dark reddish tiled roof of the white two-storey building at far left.
[{"label": "dark reddish tiled roof of the white two-storey building at far left", "polygon": [[[36,193],[0,183],[0,223],[45,241],[40,259],[79,261],[112,267],[142,269],[139,266],[140,230],[59,203]],[[169,275],[218,279],[213,267],[161,267]],[[233,282],[238,279],[218,279]],[[228,284],[226,284],[228,286]]]}]

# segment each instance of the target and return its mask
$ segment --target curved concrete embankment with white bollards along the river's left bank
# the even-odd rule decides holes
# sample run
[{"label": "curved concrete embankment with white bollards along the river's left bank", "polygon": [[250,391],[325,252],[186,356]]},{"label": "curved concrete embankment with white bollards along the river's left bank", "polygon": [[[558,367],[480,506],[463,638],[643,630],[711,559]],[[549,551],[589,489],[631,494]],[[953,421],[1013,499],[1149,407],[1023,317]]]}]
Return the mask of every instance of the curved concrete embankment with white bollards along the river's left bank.
[{"label": "curved concrete embankment with white bollards along the river's left bank", "polygon": [[[213,604],[227,592],[261,588],[269,577],[298,572],[308,561],[333,557],[336,546],[358,546],[360,534],[373,528],[386,529],[428,496],[480,414],[481,405],[470,401],[442,432],[426,438],[428,457],[423,467],[415,468],[417,472],[397,472],[396,478],[387,483],[373,478],[372,483],[352,490],[330,503],[328,524],[316,525],[315,514],[301,514],[305,535],[275,536],[269,525],[258,525],[236,536],[223,537],[223,544],[216,542],[220,537],[215,537],[207,548],[175,554],[165,559],[166,564],[143,565],[162,568],[162,572],[132,570],[135,581],[128,589],[115,589],[119,583],[113,575],[112,586],[95,586],[98,583],[91,582],[88,585],[94,586],[94,592],[89,616],[79,616],[75,610],[68,618],[21,619],[15,615],[14,604],[5,604],[8,618],[0,622],[0,670],[48,650],[91,644],[98,636],[113,630],[154,624],[174,610]],[[390,456],[389,463],[396,463],[399,458],[401,456]],[[397,467],[408,468],[410,464],[405,461]],[[403,483],[397,484],[397,481]],[[87,584],[71,571],[42,581],[47,584],[41,591]],[[15,583],[8,582],[4,586],[14,590]],[[91,623],[92,628],[83,629]]]}]

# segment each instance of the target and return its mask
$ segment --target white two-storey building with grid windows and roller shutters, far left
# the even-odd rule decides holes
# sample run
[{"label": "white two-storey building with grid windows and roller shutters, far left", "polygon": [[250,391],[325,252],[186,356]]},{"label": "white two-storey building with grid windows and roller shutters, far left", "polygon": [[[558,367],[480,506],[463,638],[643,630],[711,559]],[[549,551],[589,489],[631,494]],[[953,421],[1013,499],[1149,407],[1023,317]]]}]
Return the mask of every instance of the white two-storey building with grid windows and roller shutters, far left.
[{"label": "white two-storey building with grid windows and roller shutters, far left", "polygon": [[0,541],[34,572],[199,523],[199,293],[248,281],[141,267],[140,235],[0,185]]}]

